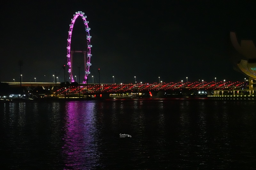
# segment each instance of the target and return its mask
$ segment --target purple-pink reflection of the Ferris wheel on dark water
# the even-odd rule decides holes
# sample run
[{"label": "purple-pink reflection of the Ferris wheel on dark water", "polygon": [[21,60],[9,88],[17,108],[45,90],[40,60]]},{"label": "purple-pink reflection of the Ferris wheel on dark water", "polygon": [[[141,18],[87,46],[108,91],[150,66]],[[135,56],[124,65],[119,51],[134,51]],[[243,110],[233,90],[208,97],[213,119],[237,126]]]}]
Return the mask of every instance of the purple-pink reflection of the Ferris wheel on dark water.
[{"label": "purple-pink reflection of the Ferris wheel on dark water", "polygon": [[63,155],[64,169],[88,169],[97,163],[98,144],[95,141],[97,127],[94,115],[95,103],[68,102]]}]

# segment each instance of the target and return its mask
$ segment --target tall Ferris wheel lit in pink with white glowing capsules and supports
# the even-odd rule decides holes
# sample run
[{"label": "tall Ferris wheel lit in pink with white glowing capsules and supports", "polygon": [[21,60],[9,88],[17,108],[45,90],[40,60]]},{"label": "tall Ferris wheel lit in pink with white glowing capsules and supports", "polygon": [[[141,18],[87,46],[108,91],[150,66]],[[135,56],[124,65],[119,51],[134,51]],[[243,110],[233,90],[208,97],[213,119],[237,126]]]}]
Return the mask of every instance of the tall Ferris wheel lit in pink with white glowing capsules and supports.
[{"label": "tall Ferris wheel lit in pink with white glowing capsules and supports", "polygon": [[[85,31],[86,31],[86,39],[87,39],[87,51],[71,51],[70,45],[71,45],[71,36],[72,36],[72,30],[74,23],[76,21],[77,17],[81,17],[84,21]],[[72,75],[72,58],[74,52],[82,52],[84,53],[84,70],[85,70],[85,76],[83,83],[85,84],[87,82],[88,74],[90,74],[90,66],[91,64],[91,36],[90,36],[90,30],[91,28],[88,27],[89,21],[86,21],[86,16],[84,16],[84,13],[82,11],[76,12],[74,15],[74,18],[71,19],[71,24],[69,25],[69,31],[68,31],[68,46],[67,46],[67,58],[68,58],[68,73],[69,78],[71,79],[71,82],[75,82],[73,75]]]}]

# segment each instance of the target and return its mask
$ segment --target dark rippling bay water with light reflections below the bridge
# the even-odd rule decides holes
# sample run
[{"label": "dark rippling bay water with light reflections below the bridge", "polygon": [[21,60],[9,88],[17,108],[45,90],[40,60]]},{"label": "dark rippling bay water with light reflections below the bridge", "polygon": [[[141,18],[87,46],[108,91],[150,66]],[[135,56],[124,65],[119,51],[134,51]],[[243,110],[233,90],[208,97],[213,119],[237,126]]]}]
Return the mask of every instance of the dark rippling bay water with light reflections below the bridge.
[{"label": "dark rippling bay water with light reflections below the bridge", "polygon": [[0,103],[1,169],[256,169],[255,108],[253,100]]}]

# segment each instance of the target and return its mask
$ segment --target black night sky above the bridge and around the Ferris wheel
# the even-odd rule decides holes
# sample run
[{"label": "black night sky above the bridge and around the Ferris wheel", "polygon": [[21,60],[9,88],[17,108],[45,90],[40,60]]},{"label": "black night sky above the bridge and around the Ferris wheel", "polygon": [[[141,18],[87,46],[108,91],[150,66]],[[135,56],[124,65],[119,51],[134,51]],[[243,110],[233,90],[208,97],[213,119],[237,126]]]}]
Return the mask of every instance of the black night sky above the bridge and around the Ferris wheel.
[{"label": "black night sky above the bridge and around the Ferris wheel", "polygon": [[[71,1],[70,1],[71,2]],[[253,1],[8,1],[1,4],[1,81],[64,81],[69,24],[83,11],[92,36],[91,76],[116,83],[243,81],[233,69],[229,32],[255,39]],[[86,46],[84,26],[77,20],[71,48]],[[83,67],[74,56],[73,76]],[[44,76],[45,75],[45,76]],[[68,75],[68,73],[66,73]],[[80,70],[81,81],[84,70]],[[89,78],[91,78],[91,76]],[[78,81],[78,79],[77,79]],[[89,80],[89,83],[92,79]]]}]

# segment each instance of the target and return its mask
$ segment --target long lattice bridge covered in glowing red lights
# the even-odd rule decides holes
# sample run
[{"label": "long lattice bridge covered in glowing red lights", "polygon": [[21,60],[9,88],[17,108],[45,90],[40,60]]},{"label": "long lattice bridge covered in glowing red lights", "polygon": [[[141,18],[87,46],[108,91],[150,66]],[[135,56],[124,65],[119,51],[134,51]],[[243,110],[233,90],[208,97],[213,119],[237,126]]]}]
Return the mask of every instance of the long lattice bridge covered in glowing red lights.
[{"label": "long lattice bridge covered in glowing red lights", "polygon": [[232,90],[241,89],[244,82],[171,82],[171,83],[153,83],[153,84],[88,84],[80,86],[60,87],[57,94],[96,94],[96,93],[132,93],[132,92],[156,92],[156,91],[214,91],[214,90]]}]

